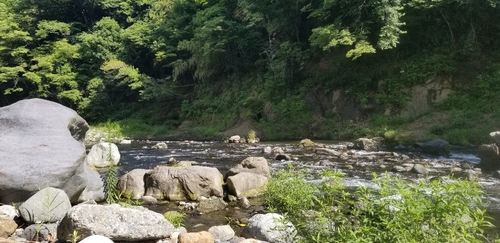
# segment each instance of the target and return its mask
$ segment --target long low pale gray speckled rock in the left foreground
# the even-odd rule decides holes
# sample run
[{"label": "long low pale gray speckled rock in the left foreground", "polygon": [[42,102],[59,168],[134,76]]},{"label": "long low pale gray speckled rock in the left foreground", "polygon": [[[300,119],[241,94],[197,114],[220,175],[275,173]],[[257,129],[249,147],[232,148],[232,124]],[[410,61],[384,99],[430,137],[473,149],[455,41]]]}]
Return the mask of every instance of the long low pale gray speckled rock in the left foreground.
[{"label": "long low pale gray speckled rock in the left foreground", "polygon": [[71,241],[73,231],[81,237],[102,235],[113,241],[142,241],[167,238],[174,226],[163,215],[142,207],[120,205],[76,205],[57,228],[59,240]]}]

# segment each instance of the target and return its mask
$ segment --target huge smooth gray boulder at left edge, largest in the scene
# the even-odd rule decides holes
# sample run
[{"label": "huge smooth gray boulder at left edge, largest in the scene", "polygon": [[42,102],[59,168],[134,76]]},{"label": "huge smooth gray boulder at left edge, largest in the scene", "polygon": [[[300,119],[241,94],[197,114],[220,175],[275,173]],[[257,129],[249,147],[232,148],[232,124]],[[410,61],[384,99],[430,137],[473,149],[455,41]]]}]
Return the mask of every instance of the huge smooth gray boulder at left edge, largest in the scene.
[{"label": "huge smooth gray boulder at left edge, largest in the scene", "polygon": [[102,200],[101,177],[85,164],[88,129],[75,111],[43,99],[0,108],[0,203],[25,201],[48,186],[73,203]]}]

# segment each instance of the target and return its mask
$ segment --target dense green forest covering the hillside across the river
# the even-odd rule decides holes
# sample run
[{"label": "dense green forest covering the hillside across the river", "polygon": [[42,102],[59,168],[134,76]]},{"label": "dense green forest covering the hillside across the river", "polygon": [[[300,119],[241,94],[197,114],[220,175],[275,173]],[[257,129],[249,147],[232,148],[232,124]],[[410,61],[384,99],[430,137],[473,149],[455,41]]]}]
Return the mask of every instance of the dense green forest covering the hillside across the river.
[{"label": "dense green forest covering the hillside across the river", "polygon": [[[267,139],[398,139],[443,117],[431,136],[479,143],[500,128],[499,20],[498,0],[0,0],[0,106],[199,138],[251,121]],[[453,95],[399,116],[441,77]]]}]

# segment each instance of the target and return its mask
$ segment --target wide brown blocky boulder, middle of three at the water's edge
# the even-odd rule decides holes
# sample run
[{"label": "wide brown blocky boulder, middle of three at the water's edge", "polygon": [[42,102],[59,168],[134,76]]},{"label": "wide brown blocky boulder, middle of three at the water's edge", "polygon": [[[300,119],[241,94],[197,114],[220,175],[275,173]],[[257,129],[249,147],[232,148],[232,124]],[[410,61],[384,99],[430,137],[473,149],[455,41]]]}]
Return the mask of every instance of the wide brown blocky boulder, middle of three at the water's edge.
[{"label": "wide brown blocky boulder, middle of three at the water's edge", "polygon": [[146,173],[146,196],[168,200],[198,200],[201,196],[223,196],[222,174],[204,166],[157,166]]}]

